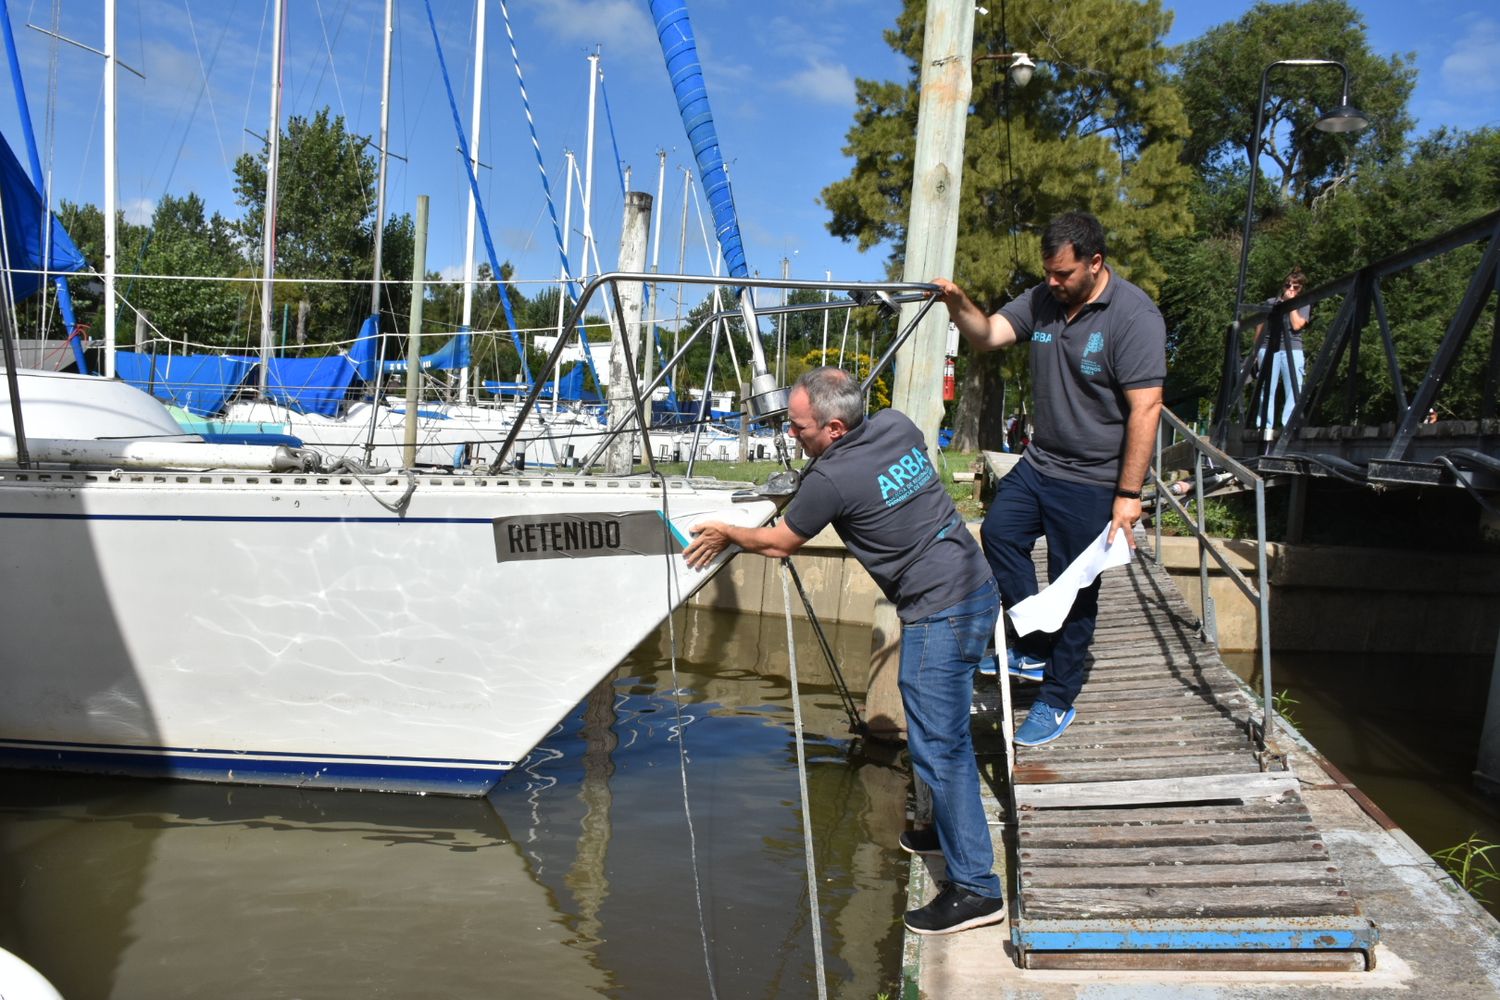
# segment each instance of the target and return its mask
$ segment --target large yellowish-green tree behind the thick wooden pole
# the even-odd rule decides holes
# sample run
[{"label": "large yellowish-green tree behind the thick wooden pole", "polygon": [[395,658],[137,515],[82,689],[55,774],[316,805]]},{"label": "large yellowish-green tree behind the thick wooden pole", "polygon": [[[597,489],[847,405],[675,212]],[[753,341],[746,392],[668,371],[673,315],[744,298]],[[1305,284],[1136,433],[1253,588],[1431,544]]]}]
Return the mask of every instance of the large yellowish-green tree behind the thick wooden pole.
[{"label": "large yellowish-green tree behind the thick wooden pole", "polygon": [[[892,274],[904,253],[924,16],[926,3],[906,0],[886,33],[909,60],[906,81],[856,81],[844,147],[854,169],[822,192],[830,231],[861,249],[891,243]],[[1047,222],[1083,208],[1110,234],[1112,267],[1155,292],[1167,274],[1152,247],[1191,228],[1188,118],[1162,43],[1172,15],[1156,0],[1020,0],[1006,18],[976,18],[974,54],[1022,49],[1036,72],[1016,87],[1002,63],[975,63],[956,280],[998,307],[1040,279]],[[993,444],[978,430],[1002,424],[988,409],[1000,406],[999,387],[1023,381],[1022,369],[1018,352],[964,361],[968,397],[956,411],[964,447]]]}]

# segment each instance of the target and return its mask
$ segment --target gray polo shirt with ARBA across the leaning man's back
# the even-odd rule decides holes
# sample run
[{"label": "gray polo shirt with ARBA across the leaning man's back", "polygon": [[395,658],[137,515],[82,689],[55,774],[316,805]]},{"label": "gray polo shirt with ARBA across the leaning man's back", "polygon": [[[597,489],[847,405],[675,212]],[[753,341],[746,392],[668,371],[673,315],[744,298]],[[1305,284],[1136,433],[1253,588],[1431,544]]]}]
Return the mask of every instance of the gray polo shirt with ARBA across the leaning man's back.
[{"label": "gray polo shirt with ARBA across the leaning man's back", "polygon": [[903,622],[952,607],[990,579],[922,432],[894,409],[867,417],[824,451],[784,520],[802,538],[832,525]]}]

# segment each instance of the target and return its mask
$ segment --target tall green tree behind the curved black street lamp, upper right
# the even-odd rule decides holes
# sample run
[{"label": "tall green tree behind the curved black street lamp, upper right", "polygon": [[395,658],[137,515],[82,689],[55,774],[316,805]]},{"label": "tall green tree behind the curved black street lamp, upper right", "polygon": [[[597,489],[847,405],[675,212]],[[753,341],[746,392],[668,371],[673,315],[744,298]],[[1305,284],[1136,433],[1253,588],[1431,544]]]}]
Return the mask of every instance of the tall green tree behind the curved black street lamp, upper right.
[{"label": "tall green tree behind the curved black street lamp, upper right", "polygon": [[[1280,199],[1311,202],[1346,183],[1359,163],[1401,156],[1412,118],[1414,55],[1370,49],[1365,24],[1346,0],[1269,3],[1221,24],[1179,52],[1182,102],[1192,121],[1184,159],[1208,174],[1250,162],[1263,70],[1282,58],[1332,58],[1350,73],[1350,100],[1371,120],[1358,136],[1318,132],[1312,123],[1338,106],[1334,67],[1280,67],[1268,79],[1260,153],[1276,165]],[[1244,181],[1240,181],[1244,184]],[[1239,187],[1244,204],[1244,186]]]}]

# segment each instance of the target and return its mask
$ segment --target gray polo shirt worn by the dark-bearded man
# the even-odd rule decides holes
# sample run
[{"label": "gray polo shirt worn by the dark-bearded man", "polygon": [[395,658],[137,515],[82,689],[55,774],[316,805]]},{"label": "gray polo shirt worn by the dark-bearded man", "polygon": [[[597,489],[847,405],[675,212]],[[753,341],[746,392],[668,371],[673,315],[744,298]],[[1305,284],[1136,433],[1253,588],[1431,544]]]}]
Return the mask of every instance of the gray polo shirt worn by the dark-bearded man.
[{"label": "gray polo shirt worn by the dark-bearded man", "polygon": [[1023,460],[1038,472],[1096,486],[1119,481],[1125,390],[1167,379],[1167,327],[1156,303],[1110,271],[1110,283],[1072,322],[1046,283],[1000,309],[1030,342],[1035,433]]}]

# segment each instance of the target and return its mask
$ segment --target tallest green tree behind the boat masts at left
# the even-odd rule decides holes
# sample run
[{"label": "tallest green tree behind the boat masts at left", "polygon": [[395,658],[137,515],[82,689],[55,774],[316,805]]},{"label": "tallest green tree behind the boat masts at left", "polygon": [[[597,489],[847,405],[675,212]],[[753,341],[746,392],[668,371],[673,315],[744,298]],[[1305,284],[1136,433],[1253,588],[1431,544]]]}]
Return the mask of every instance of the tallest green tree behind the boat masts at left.
[{"label": "tallest green tree behind the boat masts at left", "polygon": [[[266,154],[240,156],[234,193],[244,213],[237,231],[261,258],[266,225]],[[312,342],[345,340],[369,315],[374,258],[375,159],[344,117],[328,108],[312,118],[292,115],[280,139],[276,204],[276,271],[291,279],[336,279],[345,285],[278,283],[276,301],[308,303]]]}]

